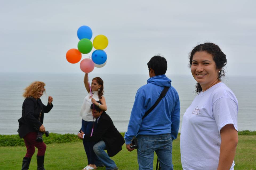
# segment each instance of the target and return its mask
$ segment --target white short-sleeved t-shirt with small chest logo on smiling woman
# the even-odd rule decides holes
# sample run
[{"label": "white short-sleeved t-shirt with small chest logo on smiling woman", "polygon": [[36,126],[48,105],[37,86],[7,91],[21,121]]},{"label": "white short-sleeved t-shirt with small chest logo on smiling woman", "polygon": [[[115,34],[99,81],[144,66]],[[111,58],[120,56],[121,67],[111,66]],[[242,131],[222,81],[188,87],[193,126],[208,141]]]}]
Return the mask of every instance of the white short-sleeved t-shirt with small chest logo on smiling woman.
[{"label": "white short-sleeved t-shirt with small chest logo on smiling woman", "polygon": [[[224,84],[200,92],[187,108],[181,128],[181,164],[184,170],[216,170],[221,144],[220,130],[237,127],[238,101]],[[230,169],[233,169],[235,163]]]}]

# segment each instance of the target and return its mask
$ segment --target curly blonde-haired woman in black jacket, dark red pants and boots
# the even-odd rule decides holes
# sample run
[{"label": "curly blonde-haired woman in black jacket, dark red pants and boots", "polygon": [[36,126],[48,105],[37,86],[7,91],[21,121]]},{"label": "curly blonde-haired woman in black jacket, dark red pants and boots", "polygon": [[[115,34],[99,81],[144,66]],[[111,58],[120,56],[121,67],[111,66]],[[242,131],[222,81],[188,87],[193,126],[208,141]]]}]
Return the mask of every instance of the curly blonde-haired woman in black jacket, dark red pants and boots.
[{"label": "curly blonde-haired woman in black jacket, dark red pants and boots", "polygon": [[33,82],[25,88],[23,96],[26,98],[22,105],[22,117],[19,121],[18,133],[21,138],[24,139],[27,147],[27,153],[23,158],[22,170],[29,169],[31,158],[35,152],[35,147],[38,148],[37,153],[37,170],[45,170],[44,158],[46,145],[43,142],[36,141],[37,132],[45,132],[43,126],[44,113],[50,112],[53,108],[53,97],[48,97],[48,104],[45,106],[40,97],[45,91],[44,82]]}]

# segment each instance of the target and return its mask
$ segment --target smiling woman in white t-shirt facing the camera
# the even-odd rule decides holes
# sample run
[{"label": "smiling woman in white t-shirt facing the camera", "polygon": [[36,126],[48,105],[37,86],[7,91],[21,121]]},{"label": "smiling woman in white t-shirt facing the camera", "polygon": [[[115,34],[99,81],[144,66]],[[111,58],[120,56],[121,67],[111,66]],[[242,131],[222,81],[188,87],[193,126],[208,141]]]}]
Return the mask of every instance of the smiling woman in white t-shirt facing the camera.
[{"label": "smiling woman in white t-shirt facing the camera", "polygon": [[238,143],[238,101],[221,82],[226,55],[218,45],[197,45],[191,52],[191,73],[198,94],[183,115],[181,163],[184,170],[234,169]]}]

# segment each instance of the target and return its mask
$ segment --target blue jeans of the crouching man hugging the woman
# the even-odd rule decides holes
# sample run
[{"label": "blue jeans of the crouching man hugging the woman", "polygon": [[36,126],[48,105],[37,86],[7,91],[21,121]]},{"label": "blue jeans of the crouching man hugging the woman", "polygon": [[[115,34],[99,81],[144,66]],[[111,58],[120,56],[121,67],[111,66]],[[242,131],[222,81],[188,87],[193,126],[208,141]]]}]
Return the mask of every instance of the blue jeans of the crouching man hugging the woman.
[{"label": "blue jeans of the crouching man hugging the woman", "polygon": [[97,155],[98,159],[105,165],[106,169],[114,169],[117,167],[115,162],[110,159],[109,155],[104,151],[106,149],[106,144],[104,141],[99,141],[93,146],[94,153]]}]

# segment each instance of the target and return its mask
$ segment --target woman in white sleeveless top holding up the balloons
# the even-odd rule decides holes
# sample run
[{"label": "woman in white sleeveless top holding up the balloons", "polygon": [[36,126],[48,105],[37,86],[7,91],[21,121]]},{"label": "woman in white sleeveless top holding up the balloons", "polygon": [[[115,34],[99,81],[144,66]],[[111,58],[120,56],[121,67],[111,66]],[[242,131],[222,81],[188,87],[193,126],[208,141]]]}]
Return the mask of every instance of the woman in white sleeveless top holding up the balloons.
[{"label": "woman in white sleeveless top holding up the balloons", "polygon": [[[85,134],[92,135],[95,127],[95,120],[93,118],[90,106],[94,104],[95,107],[99,107],[101,110],[106,111],[107,105],[105,97],[103,96],[103,80],[99,77],[93,78],[91,82],[91,87],[88,83],[88,73],[84,77],[85,88],[88,92],[88,95],[85,97],[80,111],[80,116],[82,116],[82,128],[81,131]],[[102,104],[97,101],[101,101]],[[79,135],[79,133],[78,133]],[[88,165],[84,170],[91,170],[97,168],[95,165],[96,155],[93,151],[93,142],[83,140],[83,146],[88,159]]]}]

